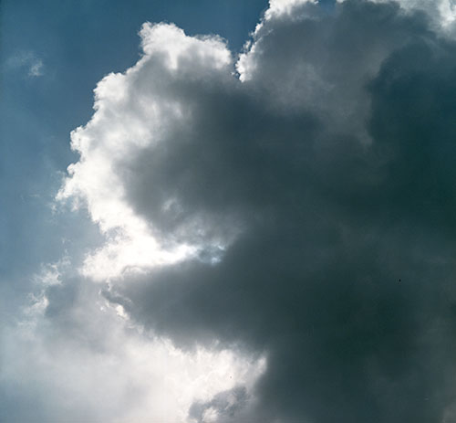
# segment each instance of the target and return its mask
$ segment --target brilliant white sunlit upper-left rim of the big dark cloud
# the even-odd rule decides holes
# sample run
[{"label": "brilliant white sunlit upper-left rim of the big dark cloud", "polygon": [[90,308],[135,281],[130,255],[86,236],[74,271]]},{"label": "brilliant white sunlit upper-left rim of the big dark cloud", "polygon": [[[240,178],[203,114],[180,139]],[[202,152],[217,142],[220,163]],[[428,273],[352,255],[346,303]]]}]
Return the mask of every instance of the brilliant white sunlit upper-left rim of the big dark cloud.
[{"label": "brilliant white sunlit upper-left rim of the big dark cloud", "polygon": [[[95,90],[95,113],[71,133],[81,158],[57,198],[88,206],[108,242],[90,255],[83,273],[97,280],[184,259],[198,246],[163,247],[154,228],[128,201],[119,164],[129,155],[163,143],[167,132],[189,125],[191,108],[164,86],[231,72],[232,58],[218,37],[187,37],[173,25],[146,23],[140,30],[144,55],[124,74],[110,74]],[[152,68],[156,68],[153,72]],[[223,77],[224,78],[224,77]],[[169,203],[170,204],[170,203]]]}]

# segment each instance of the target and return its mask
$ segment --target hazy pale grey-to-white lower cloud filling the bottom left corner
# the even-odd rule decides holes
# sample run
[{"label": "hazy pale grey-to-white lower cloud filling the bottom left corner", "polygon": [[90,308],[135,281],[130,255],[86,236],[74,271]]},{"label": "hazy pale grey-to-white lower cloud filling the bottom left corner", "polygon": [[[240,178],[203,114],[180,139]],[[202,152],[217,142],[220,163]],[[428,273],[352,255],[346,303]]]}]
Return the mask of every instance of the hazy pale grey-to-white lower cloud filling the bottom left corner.
[{"label": "hazy pale grey-to-white lower cloud filling the bottom left corner", "polygon": [[181,422],[192,402],[264,372],[262,357],[216,345],[183,352],[141,333],[73,269],[45,267],[16,325],[4,325],[2,421]]}]

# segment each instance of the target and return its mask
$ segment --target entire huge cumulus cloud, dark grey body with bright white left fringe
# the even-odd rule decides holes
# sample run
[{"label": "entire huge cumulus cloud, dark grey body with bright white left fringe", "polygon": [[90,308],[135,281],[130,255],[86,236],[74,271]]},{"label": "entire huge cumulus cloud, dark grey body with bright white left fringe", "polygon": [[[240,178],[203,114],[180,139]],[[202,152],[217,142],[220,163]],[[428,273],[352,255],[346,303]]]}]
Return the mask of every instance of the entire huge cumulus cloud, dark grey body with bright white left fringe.
[{"label": "entire huge cumulus cloud, dark grey body with bright white left fringe", "polygon": [[[61,409],[99,377],[123,410],[98,410],[96,389],[105,420],[454,418],[451,11],[275,0],[239,58],[219,37],[142,26],[140,60],[98,83],[72,132],[80,159],[58,195],[106,237],[87,280],[38,297],[44,322],[100,352],[42,366],[93,370]],[[207,366],[225,370],[204,391]]]}]

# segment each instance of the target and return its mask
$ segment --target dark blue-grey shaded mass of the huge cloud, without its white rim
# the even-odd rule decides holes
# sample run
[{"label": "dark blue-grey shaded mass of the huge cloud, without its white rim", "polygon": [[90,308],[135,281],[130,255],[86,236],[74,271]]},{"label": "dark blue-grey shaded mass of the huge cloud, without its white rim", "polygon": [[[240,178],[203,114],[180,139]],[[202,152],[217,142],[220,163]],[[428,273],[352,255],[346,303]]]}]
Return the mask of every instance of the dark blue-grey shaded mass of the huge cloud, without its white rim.
[{"label": "dark blue-grey shaded mass of the huge cloud, without its white rim", "polygon": [[250,54],[244,82],[161,81],[191,123],[119,166],[162,237],[233,240],[105,295],[184,348],[266,354],[254,406],[239,387],[195,421],[456,421],[456,44],[347,1],[265,21]]}]

